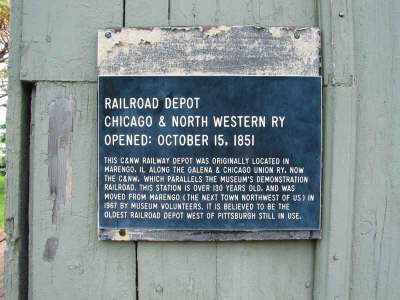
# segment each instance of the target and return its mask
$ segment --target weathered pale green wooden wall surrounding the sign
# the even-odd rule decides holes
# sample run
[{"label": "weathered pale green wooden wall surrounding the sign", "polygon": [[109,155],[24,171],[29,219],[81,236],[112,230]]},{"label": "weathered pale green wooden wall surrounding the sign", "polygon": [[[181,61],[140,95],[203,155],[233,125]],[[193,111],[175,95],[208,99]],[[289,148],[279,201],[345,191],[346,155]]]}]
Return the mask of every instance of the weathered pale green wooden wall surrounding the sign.
[{"label": "weathered pale green wooden wall surrounding the sign", "polygon": [[[7,299],[400,299],[398,0],[11,5]],[[220,24],[322,30],[322,240],[98,241],[97,30]]]}]

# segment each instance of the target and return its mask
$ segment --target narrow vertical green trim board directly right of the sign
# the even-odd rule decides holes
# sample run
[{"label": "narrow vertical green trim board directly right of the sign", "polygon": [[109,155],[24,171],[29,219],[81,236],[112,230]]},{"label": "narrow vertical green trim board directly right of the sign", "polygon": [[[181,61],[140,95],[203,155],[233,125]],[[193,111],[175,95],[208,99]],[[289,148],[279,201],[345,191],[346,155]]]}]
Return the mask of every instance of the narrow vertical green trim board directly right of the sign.
[{"label": "narrow vertical green trim board directly right of the sign", "polygon": [[320,20],[324,32],[324,230],[316,247],[314,298],[345,300],[353,299],[351,249],[357,140],[352,1],[320,1]]}]

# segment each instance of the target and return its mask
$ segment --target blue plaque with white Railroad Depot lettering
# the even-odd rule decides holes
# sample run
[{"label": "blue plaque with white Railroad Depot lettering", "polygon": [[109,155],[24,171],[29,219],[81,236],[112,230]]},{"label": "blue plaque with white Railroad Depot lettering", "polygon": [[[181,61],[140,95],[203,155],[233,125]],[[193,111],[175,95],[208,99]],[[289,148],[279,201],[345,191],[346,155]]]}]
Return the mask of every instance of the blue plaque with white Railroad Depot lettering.
[{"label": "blue plaque with white Railroad Depot lettering", "polygon": [[320,229],[320,77],[100,76],[98,96],[100,229]]}]

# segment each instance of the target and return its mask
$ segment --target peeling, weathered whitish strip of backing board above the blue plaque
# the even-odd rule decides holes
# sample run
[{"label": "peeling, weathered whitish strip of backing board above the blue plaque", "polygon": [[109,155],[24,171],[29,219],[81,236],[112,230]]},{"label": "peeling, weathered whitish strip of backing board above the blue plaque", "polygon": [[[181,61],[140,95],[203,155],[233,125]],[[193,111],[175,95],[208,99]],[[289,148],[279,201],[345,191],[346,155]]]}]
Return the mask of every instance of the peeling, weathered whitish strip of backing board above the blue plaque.
[{"label": "peeling, weathered whitish strip of backing board above the blue plaque", "polygon": [[320,68],[313,27],[122,28],[99,30],[98,40],[99,75],[318,76]]}]

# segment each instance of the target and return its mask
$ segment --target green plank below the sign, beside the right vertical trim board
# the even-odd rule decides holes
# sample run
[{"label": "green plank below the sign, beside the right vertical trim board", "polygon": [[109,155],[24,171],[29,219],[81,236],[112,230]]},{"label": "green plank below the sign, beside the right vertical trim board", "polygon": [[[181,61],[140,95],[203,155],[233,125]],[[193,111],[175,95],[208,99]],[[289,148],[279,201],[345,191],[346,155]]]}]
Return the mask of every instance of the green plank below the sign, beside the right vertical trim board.
[{"label": "green plank below the sign, beside the right vertical trim board", "polygon": [[308,241],[217,244],[217,299],[313,299]]}]

